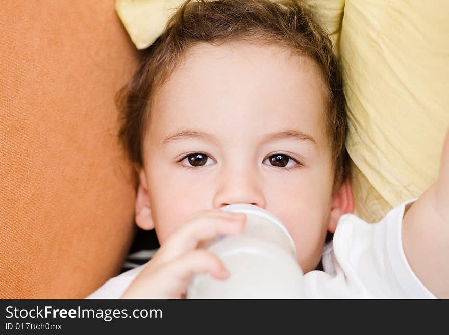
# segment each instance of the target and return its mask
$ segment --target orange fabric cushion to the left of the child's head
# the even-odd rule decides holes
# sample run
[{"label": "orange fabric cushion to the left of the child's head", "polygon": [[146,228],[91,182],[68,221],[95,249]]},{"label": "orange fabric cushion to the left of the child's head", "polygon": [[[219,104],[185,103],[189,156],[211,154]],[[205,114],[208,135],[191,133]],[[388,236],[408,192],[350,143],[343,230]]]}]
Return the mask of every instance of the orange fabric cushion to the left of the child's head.
[{"label": "orange fabric cushion to the left of the child's head", "polygon": [[2,4],[0,298],[84,298],[135,233],[114,95],[139,54],[114,1],[45,4]]}]

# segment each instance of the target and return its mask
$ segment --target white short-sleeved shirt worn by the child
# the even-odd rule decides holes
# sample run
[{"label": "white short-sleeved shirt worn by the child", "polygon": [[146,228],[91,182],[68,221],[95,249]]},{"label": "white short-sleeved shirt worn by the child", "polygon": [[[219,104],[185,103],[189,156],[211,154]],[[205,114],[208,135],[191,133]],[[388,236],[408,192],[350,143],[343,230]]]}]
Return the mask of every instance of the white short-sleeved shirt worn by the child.
[{"label": "white short-sleeved shirt worn by the child", "polygon": [[[402,247],[405,206],[392,209],[378,223],[367,223],[353,214],[342,215],[333,241],[323,250],[324,271],[304,275],[304,297],[432,299],[435,296],[419,281]],[[118,299],[143,265],[114,278],[87,299]]]}]

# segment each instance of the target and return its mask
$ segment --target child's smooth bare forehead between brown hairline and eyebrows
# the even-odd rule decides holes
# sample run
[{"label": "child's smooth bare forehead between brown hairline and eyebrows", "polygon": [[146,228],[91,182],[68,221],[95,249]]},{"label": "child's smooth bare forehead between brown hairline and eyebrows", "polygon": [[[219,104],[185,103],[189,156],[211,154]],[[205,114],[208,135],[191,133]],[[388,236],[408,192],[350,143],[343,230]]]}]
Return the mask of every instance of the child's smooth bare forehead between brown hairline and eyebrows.
[{"label": "child's smooth bare forehead between brown hairline and eyebrows", "polygon": [[298,128],[319,142],[326,106],[322,77],[310,59],[276,45],[200,43],[154,95],[149,136],[161,140],[179,128],[200,128],[224,140],[239,131],[257,137]]}]

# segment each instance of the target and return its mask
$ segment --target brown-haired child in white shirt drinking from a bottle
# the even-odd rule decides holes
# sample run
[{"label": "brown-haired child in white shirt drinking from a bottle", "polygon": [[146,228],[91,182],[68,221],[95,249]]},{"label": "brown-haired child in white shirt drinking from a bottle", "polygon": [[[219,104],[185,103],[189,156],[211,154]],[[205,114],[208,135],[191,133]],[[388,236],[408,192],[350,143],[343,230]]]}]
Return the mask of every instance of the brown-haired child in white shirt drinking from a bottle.
[{"label": "brown-haired child in white shirt drinking from a bottle", "polygon": [[139,172],[136,223],[161,248],[89,298],[183,298],[196,273],[226,279],[198,246],[243,229],[220,211],[232,203],[285,224],[306,298],[449,297],[448,139],[438,181],[367,224],[349,214],[336,57],[304,9],[187,1],[167,27],[126,87],[120,133]]}]

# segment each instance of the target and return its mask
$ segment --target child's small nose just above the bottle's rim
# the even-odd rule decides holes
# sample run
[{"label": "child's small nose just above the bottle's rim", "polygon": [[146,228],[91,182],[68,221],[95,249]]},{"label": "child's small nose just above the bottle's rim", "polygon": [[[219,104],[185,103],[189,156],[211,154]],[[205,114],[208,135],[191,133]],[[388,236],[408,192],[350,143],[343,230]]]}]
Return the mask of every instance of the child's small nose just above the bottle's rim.
[{"label": "child's small nose just above the bottle's rim", "polygon": [[254,171],[230,169],[222,173],[213,199],[213,207],[221,207],[234,203],[247,203],[265,208],[262,178]]}]

